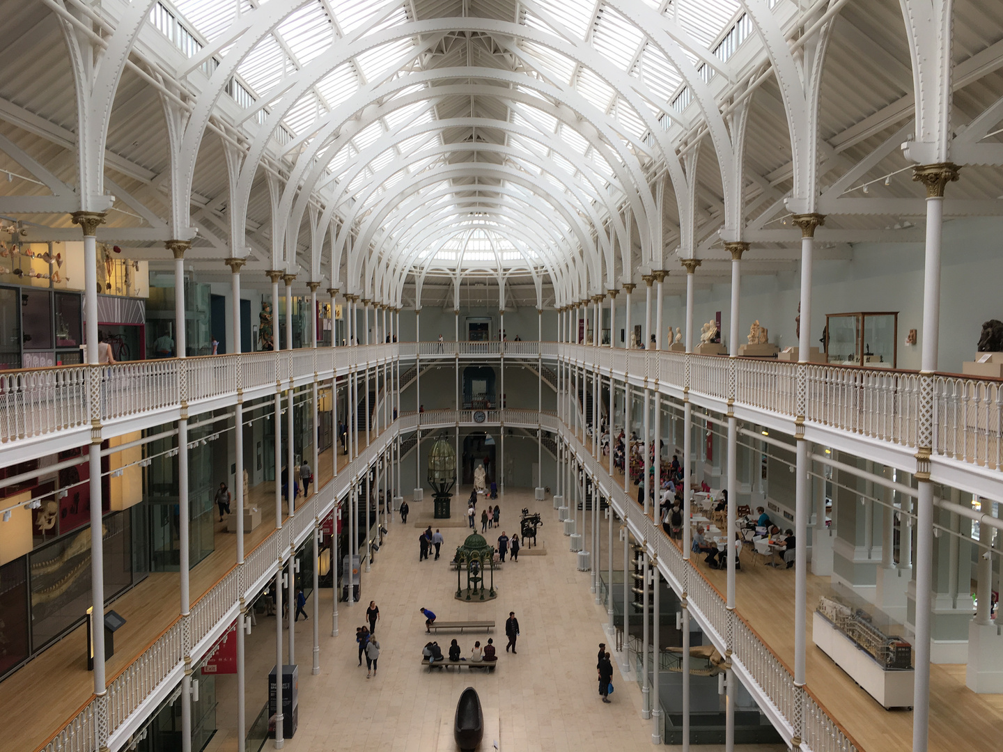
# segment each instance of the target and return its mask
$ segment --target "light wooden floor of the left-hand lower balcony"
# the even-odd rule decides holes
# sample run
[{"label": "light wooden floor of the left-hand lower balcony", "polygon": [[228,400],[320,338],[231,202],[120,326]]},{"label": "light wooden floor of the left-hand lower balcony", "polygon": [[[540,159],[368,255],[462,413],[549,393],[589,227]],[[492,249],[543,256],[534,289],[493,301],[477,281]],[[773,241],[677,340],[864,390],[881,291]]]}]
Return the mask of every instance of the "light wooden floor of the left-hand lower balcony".
[{"label": "light wooden floor of the left-hand lower balcony", "polygon": [[[377,435],[373,431],[370,440],[374,441]],[[363,431],[359,446],[365,448],[367,445]],[[339,471],[346,464],[347,457],[339,452]],[[314,477],[324,485],[334,475],[330,449],[321,452],[319,465],[314,468]],[[251,488],[248,503],[261,509],[262,522],[245,536],[245,555],[275,530],[274,482],[259,483]],[[236,508],[236,503],[231,504],[231,508]],[[283,514],[283,519],[286,518]],[[193,604],[235,566],[237,536],[227,532],[226,527],[226,522],[216,522],[215,550],[192,569]],[[105,667],[108,682],[138,658],[178,617],[180,600],[178,574],[154,573],[114,601],[111,608],[121,614],[126,624],[115,633],[115,655]],[[17,724],[6,724],[8,728],[0,735],[0,752],[36,749],[89,701],[94,685],[93,676],[86,668],[85,649],[86,629],[81,624],[0,683],[0,707],[4,709],[4,716],[18,719]],[[45,688],[51,687],[59,689],[46,691]]]}]

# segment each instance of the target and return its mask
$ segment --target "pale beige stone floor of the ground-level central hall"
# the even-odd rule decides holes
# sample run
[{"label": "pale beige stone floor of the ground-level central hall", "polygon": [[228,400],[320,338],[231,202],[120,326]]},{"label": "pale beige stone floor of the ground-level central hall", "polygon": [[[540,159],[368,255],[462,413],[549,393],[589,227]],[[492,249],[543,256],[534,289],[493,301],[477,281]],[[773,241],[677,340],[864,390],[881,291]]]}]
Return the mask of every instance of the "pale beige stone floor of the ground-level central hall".
[{"label": "pale beige stone floor of the ground-level central hall", "polygon": [[[465,506],[464,499],[462,490],[453,496],[454,518],[457,507]],[[542,513],[545,523],[540,540],[547,553],[524,552],[518,562],[507,561],[494,574],[498,598],[483,604],[454,599],[456,573],[448,561],[470,530],[460,526],[458,519],[442,520],[450,526],[438,525],[445,538],[441,557],[419,562],[418,535],[432,521],[432,502],[409,503],[407,524],[401,524],[399,515],[394,517],[371,572],[362,575],[361,603],[339,604],[337,638],[330,636],[331,592],[321,591],[321,673],[317,676],[310,672],[313,620],[317,618],[312,599],[307,607],[310,621],[296,624],[299,730],[285,748],[290,752],[454,750],[456,700],[465,687],[473,686],[485,713],[485,736],[479,749],[486,752],[495,741],[505,752],[650,749],[652,724],[641,718],[636,682],[625,680],[616,668],[612,704],[604,705],[597,693],[596,652],[599,643],[610,643],[603,631],[605,607],[595,604],[589,575],[577,572],[575,555],[568,549],[568,538],[556,521],[550,499],[534,500],[532,489],[510,489],[499,497],[500,527],[510,534],[518,527],[522,507]],[[483,503],[477,505],[478,518]],[[498,534],[500,530],[491,529],[485,537],[494,540]],[[370,601],[380,610],[376,639],[381,655],[377,676],[367,679],[365,664],[358,666],[354,636],[355,628],[365,623]],[[443,632],[429,636],[424,617],[418,613],[420,607],[431,609],[440,621],[493,619],[497,628],[490,635]],[[505,621],[510,611],[516,612],[522,632],[515,656],[505,652]],[[264,676],[275,663],[274,636],[272,618],[259,617],[248,639],[248,682],[255,688],[252,692],[249,687],[249,716],[265,699],[257,690],[263,690]],[[420,664],[421,648],[429,639],[437,640],[445,652],[456,638],[463,655],[469,656],[474,641],[483,645],[487,637],[494,640],[499,656],[497,670],[491,674],[466,670],[429,674]],[[257,645],[252,647],[253,643]],[[232,693],[224,690],[223,677],[220,680],[220,730],[210,743],[210,752],[236,749],[236,729],[225,728],[234,717],[227,697]],[[265,749],[272,745],[266,742]],[[723,747],[701,749],[712,752]],[[742,749],[773,752],[782,747]]]}]

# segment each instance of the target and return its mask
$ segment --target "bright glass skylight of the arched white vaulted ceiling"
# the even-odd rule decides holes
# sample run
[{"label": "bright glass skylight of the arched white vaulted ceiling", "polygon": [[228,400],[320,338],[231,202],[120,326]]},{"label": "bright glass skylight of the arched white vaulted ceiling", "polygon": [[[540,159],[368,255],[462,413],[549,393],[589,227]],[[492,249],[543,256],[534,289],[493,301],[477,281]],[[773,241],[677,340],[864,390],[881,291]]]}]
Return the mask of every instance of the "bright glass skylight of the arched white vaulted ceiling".
[{"label": "bright glass skylight of the arched white vaulted ceiling", "polygon": [[[572,232],[570,217],[582,221],[592,239],[608,232],[597,228],[596,220],[603,222],[608,207],[625,195],[623,172],[610,163],[618,150],[609,147],[608,136],[597,147],[597,136],[586,135],[576,118],[559,119],[559,102],[538,89],[540,82],[573,89],[603,113],[622,142],[616,145],[626,146],[642,167],[656,157],[649,123],[670,130],[674,115],[690,101],[683,77],[662,50],[602,0],[268,0],[282,2],[294,10],[241,62],[228,93],[254,112],[247,127],[264,122],[276,107],[285,110],[275,138],[290,166],[315,138],[325,138],[314,157],[325,162],[325,176],[316,185],[322,201],[334,203],[338,216],[353,222],[391,204],[373,243],[384,260],[408,269],[546,271],[580,252],[582,236]],[[688,42],[722,64],[751,33],[737,0],[630,2],[670,17]],[[238,16],[260,5],[265,2],[160,0],[150,21],[190,57],[222,39],[225,44],[209,63],[214,65],[236,41],[230,29]],[[584,65],[531,39],[467,33],[461,24],[434,35],[406,33],[414,21],[464,13],[518,18],[531,36],[543,32],[589,45],[600,63]],[[286,80],[316,58],[333,55],[333,44],[392,27],[401,27],[399,37],[389,34],[391,41],[337,65],[295,102],[284,101]],[[685,54],[704,80],[712,77],[697,55]],[[351,137],[322,130],[324,118],[344,109],[362,87],[391,80],[406,84],[408,76],[422,71],[466,66],[523,73],[527,85],[478,76],[426,79],[394,88],[381,102],[385,113]],[[610,82],[615,75],[634,79],[641,93],[635,102],[649,111],[639,112],[617,93]],[[472,95],[441,93],[460,82],[483,85]],[[406,103],[395,107],[394,99]],[[512,127],[499,127],[498,121]],[[425,179],[436,170],[448,176]]]}]

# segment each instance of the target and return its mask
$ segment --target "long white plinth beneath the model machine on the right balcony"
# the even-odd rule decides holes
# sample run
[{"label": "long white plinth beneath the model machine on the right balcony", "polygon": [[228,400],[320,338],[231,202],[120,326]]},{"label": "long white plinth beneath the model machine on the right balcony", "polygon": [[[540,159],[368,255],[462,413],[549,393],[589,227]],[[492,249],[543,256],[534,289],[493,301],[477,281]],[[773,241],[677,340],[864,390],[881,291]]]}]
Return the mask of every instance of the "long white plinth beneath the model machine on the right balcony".
[{"label": "long white plinth beneath the model machine on the right balcony", "polygon": [[823,616],[811,614],[811,641],[885,708],[912,708],[916,672],[886,671]]}]

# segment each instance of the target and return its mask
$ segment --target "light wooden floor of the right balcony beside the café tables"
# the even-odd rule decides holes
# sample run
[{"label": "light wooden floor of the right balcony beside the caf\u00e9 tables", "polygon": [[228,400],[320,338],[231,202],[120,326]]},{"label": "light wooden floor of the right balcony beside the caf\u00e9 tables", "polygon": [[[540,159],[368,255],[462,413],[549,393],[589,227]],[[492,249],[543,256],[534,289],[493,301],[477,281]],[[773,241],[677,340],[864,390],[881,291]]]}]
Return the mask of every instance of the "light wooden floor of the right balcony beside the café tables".
[{"label": "light wooden floor of the right balcony beside the caf\u00e9 tables", "polygon": [[[581,436],[579,436],[581,439]],[[608,461],[608,457],[606,458]],[[616,477],[623,487],[623,473]],[[631,486],[632,490],[634,486]],[[700,573],[719,593],[727,573],[712,570],[694,556]],[[794,665],[794,571],[752,563],[741,554],[736,574],[735,608],[784,664]],[[807,686],[818,701],[867,752],[910,752],[913,713],[885,710],[811,642],[811,613],[829,589],[829,578],[807,576]],[[989,749],[989,739],[1003,734],[1003,695],[980,695],[965,686],[964,664],[930,667],[930,749]]]}]

